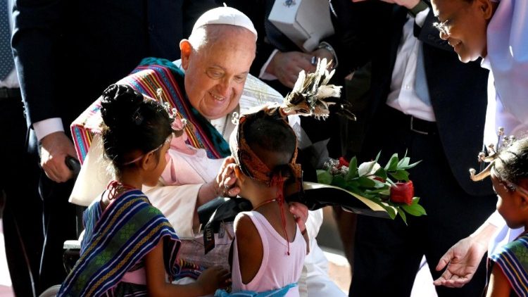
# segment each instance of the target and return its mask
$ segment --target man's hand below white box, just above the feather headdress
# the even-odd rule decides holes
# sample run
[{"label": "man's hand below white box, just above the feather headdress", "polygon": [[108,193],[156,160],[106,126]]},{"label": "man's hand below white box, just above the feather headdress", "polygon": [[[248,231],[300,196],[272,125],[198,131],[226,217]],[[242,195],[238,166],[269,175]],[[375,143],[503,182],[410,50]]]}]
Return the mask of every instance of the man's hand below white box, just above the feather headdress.
[{"label": "man's hand below white box, just above the feather headdress", "polygon": [[287,53],[277,51],[266,68],[266,72],[275,75],[284,86],[293,88],[301,70],[315,71],[315,65],[311,63],[312,57],[313,55],[301,51],[288,51]]}]

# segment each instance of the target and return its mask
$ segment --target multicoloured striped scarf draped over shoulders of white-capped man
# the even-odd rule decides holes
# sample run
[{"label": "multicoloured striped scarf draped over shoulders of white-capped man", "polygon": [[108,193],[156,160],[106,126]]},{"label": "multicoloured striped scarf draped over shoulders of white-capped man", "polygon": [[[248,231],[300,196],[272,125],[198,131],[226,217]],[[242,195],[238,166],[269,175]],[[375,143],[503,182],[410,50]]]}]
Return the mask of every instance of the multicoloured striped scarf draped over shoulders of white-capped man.
[{"label": "multicoloured striped scarf draped over shoulders of white-capped man", "polygon": [[[230,156],[230,148],[210,122],[191,106],[184,89],[184,74],[171,61],[162,58],[144,58],[132,73],[117,82],[128,84],[140,93],[158,99],[157,91],[162,90],[163,101],[176,108],[179,118],[187,119],[185,132],[187,144],[204,148],[209,158],[218,159]],[[71,125],[77,156],[84,161],[92,134],[101,132],[101,103],[97,99]]]}]

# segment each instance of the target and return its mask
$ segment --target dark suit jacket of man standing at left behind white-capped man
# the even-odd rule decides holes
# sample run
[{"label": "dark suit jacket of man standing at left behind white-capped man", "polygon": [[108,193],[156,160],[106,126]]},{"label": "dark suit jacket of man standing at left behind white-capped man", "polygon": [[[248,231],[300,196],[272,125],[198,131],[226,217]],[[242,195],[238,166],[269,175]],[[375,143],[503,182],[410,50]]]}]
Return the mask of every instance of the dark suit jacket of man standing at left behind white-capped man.
[{"label": "dark suit jacket of man standing at left behind white-capped man", "polygon": [[17,0],[13,49],[30,125],[70,123],[146,56],[175,60],[213,0]]}]

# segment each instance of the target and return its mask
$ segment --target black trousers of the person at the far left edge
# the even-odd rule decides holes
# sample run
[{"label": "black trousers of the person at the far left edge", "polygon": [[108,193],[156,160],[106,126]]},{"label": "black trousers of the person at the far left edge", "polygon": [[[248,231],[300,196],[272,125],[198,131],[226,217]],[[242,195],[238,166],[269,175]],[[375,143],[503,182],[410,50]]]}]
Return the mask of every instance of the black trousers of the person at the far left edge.
[{"label": "black trousers of the person at the far left edge", "polygon": [[35,296],[44,242],[37,189],[40,170],[37,156],[27,151],[20,96],[0,99],[0,139],[0,191],[6,197],[2,222],[9,274],[16,296]]}]

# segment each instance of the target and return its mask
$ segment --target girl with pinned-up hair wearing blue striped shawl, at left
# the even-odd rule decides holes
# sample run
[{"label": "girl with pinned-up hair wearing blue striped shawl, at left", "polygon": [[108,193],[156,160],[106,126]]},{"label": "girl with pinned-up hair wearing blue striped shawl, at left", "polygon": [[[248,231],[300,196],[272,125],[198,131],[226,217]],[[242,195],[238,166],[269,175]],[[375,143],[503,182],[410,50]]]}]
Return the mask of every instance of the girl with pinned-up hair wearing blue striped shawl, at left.
[{"label": "girl with pinned-up hair wearing blue striped shawl, at left", "polygon": [[84,212],[80,259],[58,296],[203,296],[225,286],[229,272],[221,267],[193,284],[170,283],[180,272],[180,239],[141,191],[156,185],[172,135],[182,130],[172,129],[160,103],[126,85],[108,87],[101,106],[114,180]]}]

